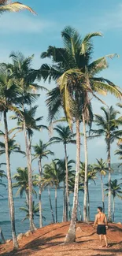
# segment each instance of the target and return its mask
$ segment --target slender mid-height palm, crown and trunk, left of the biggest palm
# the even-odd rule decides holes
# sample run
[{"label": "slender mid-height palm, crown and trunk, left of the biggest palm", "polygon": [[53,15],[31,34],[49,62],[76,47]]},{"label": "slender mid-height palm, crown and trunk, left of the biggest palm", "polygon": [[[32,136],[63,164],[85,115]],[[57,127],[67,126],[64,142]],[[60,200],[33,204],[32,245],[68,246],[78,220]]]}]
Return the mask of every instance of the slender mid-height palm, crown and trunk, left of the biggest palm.
[{"label": "slender mid-height palm, crown and trunk, left of the biggest palm", "polygon": [[68,221],[68,202],[69,202],[69,196],[68,196],[68,155],[67,155],[67,144],[72,143],[76,144],[76,139],[74,137],[76,134],[72,134],[69,126],[61,126],[57,125],[56,128],[54,128],[54,131],[57,132],[56,137],[52,137],[50,139],[50,143],[63,143],[64,149],[65,149],[65,184],[66,184],[66,220]]}]

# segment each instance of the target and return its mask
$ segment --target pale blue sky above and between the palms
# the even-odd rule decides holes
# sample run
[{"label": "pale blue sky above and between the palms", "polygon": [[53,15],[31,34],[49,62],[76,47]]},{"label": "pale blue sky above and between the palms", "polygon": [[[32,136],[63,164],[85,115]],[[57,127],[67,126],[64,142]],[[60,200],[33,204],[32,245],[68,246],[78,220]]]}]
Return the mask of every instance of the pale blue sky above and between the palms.
[{"label": "pale blue sky above and between the palms", "polygon": [[[102,57],[105,54],[117,53],[120,58],[109,61],[109,69],[102,73],[103,76],[112,80],[121,87],[121,68],[122,68],[122,2],[119,0],[23,0],[24,4],[35,9],[37,15],[32,15],[27,11],[21,13],[5,13],[0,17],[0,61],[9,61],[9,54],[12,50],[21,51],[25,56],[35,54],[33,67],[35,69],[43,63],[39,58],[47,46],[62,46],[61,30],[66,25],[71,25],[78,29],[81,35],[87,32],[100,31],[102,38],[94,39],[94,59]],[[43,84],[43,81],[40,83]],[[50,85],[46,83],[50,89]],[[39,99],[39,115],[47,116],[45,106],[45,95]],[[116,104],[113,96],[107,96],[105,101],[109,106]],[[99,113],[101,103],[93,102],[94,113]],[[13,123],[9,122],[10,128]],[[47,139],[47,134],[43,133],[43,139]],[[18,136],[18,141],[24,147],[24,139]],[[38,142],[40,134],[35,134],[34,143]],[[113,152],[116,144],[113,145]],[[54,147],[57,152],[57,147]],[[69,147],[69,155],[76,157],[75,148]],[[81,150],[83,155],[83,148]],[[57,157],[63,157],[63,148],[59,150]],[[95,161],[95,158],[106,158],[105,143],[103,139],[89,143],[89,160]],[[13,158],[14,159],[14,158]],[[14,159],[15,160],[15,159]],[[117,158],[112,153],[112,161]],[[25,161],[24,161],[25,162]],[[13,169],[17,166],[17,158],[13,163]],[[25,163],[24,163],[25,164]]]}]

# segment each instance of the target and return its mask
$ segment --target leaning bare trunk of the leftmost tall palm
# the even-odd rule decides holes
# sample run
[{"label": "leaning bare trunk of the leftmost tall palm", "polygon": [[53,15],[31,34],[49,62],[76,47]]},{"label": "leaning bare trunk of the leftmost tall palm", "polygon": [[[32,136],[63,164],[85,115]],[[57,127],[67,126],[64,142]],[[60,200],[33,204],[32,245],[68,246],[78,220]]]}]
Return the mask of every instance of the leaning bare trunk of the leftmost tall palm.
[{"label": "leaning bare trunk of the leftmost tall palm", "polygon": [[4,126],[5,126],[5,147],[6,147],[6,168],[7,168],[7,177],[8,177],[9,215],[10,215],[11,228],[12,228],[13,247],[18,248],[19,246],[17,243],[17,236],[16,236],[16,229],[15,229],[13,187],[12,187],[12,179],[11,179],[10,163],[9,163],[8,124],[7,124],[6,111],[4,111],[3,115],[4,115]]}]

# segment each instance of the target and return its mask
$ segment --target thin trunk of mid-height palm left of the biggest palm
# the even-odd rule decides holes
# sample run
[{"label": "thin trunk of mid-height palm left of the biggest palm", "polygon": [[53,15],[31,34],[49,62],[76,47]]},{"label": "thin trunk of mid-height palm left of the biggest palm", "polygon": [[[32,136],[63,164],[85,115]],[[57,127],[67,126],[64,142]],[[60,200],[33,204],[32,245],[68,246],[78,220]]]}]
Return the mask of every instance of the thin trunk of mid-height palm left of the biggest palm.
[{"label": "thin trunk of mid-height palm left of the biggest palm", "polygon": [[68,221],[68,157],[67,157],[67,149],[65,144],[65,184],[66,184],[66,221]]}]

